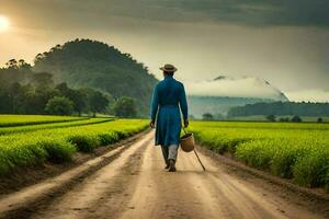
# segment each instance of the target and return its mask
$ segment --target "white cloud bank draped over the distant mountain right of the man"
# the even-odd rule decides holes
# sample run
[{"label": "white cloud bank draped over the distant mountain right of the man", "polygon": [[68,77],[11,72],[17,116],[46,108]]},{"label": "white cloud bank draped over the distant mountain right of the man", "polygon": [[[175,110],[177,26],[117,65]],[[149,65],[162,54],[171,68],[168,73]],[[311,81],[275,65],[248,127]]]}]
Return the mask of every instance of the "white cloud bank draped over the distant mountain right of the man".
[{"label": "white cloud bank draped over the distant mountain right of the man", "polygon": [[252,77],[219,77],[214,81],[188,82],[185,87],[189,95],[283,100],[277,89],[266,81]]}]

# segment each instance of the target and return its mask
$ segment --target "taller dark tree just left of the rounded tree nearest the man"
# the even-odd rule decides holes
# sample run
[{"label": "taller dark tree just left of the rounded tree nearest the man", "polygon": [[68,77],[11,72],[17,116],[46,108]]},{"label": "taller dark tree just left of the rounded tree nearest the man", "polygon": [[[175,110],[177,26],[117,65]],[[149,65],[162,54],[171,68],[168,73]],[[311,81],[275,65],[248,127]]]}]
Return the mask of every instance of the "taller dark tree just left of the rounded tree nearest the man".
[{"label": "taller dark tree just left of the rounded tree nearest the man", "polygon": [[105,112],[109,105],[109,99],[101,92],[88,89],[88,107],[93,113],[95,117],[97,113]]}]

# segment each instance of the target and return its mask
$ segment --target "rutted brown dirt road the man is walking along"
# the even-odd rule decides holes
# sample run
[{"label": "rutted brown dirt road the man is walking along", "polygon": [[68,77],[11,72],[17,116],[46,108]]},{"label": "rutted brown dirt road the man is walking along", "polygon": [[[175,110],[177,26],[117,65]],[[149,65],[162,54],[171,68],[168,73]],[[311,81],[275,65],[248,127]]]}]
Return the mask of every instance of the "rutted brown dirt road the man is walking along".
[{"label": "rutted brown dirt road the man is walking along", "polygon": [[[207,168],[206,172],[193,153],[180,151],[178,172],[169,173],[163,170],[161,151],[152,146],[152,137],[154,132],[146,134],[77,185],[16,217],[324,218],[303,205],[291,203],[282,194],[265,191],[260,186],[262,182],[243,181],[228,173],[225,165],[204,154],[200,158]],[[7,204],[13,200],[8,199]]]}]

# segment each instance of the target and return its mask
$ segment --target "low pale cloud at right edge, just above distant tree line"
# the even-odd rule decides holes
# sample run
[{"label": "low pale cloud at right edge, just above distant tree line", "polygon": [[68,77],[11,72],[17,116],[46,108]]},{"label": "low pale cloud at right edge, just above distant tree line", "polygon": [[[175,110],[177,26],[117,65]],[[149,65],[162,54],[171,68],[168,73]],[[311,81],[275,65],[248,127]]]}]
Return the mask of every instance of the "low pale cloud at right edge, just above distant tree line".
[{"label": "low pale cloud at right edge, just above distant tree line", "polygon": [[314,89],[314,90],[302,90],[286,92],[286,95],[291,101],[296,102],[327,102],[329,103],[329,91]]}]

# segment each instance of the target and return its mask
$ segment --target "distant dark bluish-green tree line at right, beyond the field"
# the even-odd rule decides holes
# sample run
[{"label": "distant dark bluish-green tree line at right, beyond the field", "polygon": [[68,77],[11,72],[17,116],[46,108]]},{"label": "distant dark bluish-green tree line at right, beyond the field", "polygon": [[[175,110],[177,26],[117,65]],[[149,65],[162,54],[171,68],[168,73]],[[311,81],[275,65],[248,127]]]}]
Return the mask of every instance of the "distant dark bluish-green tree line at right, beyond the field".
[{"label": "distant dark bluish-green tree line at right, beyond the field", "polygon": [[298,116],[329,116],[329,103],[311,102],[274,102],[256,103],[232,107],[228,117],[253,115],[298,115]]}]

